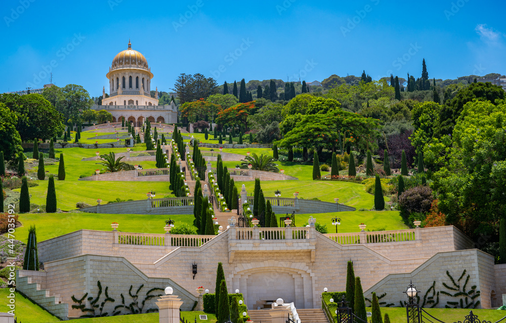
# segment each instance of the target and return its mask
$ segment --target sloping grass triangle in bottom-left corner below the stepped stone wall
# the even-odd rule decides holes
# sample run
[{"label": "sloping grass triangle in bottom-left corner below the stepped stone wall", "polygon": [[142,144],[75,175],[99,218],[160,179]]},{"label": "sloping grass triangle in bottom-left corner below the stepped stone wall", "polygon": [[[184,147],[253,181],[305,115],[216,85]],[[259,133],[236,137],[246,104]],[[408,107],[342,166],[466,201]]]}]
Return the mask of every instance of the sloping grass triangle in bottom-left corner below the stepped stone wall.
[{"label": "sloping grass triangle in bottom-left corner below the stepped stone wall", "polygon": [[[0,312],[8,312],[11,309],[7,306],[8,298],[11,292],[8,288],[0,289]],[[15,316],[18,319],[18,322],[30,322],[30,323],[46,323],[46,322],[59,322],[60,320],[56,317],[39,307],[38,305],[33,304],[29,299],[23,297],[21,294],[15,292]]]}]

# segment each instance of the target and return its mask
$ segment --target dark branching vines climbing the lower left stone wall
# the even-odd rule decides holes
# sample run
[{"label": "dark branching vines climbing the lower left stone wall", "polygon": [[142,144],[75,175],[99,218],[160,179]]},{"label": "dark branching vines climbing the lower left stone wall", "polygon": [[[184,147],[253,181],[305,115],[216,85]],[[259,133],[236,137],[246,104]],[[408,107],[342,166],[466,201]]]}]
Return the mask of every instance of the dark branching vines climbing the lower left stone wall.
[{"label": "dark branching vines climbing the lower left stone wall", "polygon": [[[109,316],[108,312],[103,311],[104,306],[107,302],[114,303],[115,300],[113,298],[109,297],[109,294],[108,294],[109,287],[106,287],[105,291],[104,291],[105,299],[103,302],[100,303],[99,300],[100,300],[100,297],[102,296],[102,284],[100,283],[100,281],[97,281],[97,286],[98,286],[98,293],[97,293],[96,298],[94,298],[92,296],[88,297],[88,293],[83,295],[80,299],[77,299],[74,297],[74,295],[72,295],[72,297],[71,297],[72,301],[77,304],[77,305],[72,305],[72,308],[80,309],[81,312],[85,313],[85,314],[81,315],[80,317]],[[163,291],[163,289],[162,288],[150,289],[146,293],[144,300],[139,305],[139,301],[140,301],[139,292],[141,291],[141,289],[143,287],[144,287],[144,284],[139,286],[139,288],[137,289],[135,294],[132,294],[132,289],[134,288],[134,286],[130,285],[130,290],[128,293],[129,293],[130,297],[132,298],[132,302],[128,305],[125,304],[125,298],[124,298],[123,294],[120,294],[121,295],[121,304],[116,305],[114,307],[114,311],[112,312],[111,316],[120,315],[121,309],[124,309],[126,311],[126,313],[124,313],[124,314],[141,314],[141,313],[157,312],[158,308],[149,308],[145,312],[143,312],[144,305],[146,304],[146,301],[148,301],[154,297],[159,297],[162,295],[162,294],[154,295],[154,294],[151,294],[152,292]],[[90,301],[91,308],[86,308],[86,304],[83,304],[83,302],[85,302],[85,300]]]}]

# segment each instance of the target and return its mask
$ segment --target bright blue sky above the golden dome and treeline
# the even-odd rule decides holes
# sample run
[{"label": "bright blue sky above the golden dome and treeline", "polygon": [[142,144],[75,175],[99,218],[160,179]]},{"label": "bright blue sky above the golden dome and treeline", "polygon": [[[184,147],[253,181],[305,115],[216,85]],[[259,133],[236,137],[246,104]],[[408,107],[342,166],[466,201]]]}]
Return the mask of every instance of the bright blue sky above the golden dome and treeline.
[{"label": "bright blue sky above the golden dome and treeline", "polygon": [[[113,57],[143,53],[151,88],[180,73],[245,78],[456,78],[506,73],[504,1],[3,1],[0,93],[49,83],[102,94]],[[186,17],[185,17],[186,16]],[[51,66],[53,65],[53,66]],[[107,89],[106,89],[107,90]]]}]

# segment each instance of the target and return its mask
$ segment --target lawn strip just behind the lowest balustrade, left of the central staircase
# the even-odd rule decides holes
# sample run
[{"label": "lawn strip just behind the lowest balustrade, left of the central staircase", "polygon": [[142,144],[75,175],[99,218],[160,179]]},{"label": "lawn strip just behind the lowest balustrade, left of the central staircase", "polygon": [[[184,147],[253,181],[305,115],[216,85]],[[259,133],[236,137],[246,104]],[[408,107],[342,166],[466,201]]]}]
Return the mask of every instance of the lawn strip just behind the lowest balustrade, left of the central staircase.
[{"label": "lawn strip just behind the lowest balustrade, left of the central staircase", "polygon": [[37,241],[44,241],[80,229],[110,231],[111,223],[119,224],[120,232],[164,234],[165,220],[175,220],[175,225],[193,225],[193,214],[185,215],[142,215],[142,214],[101,214],[101,213],[25,213],[19,214],[23,224],[16,228],[16,239],[26,243],[28,229],[37,228]]}]

